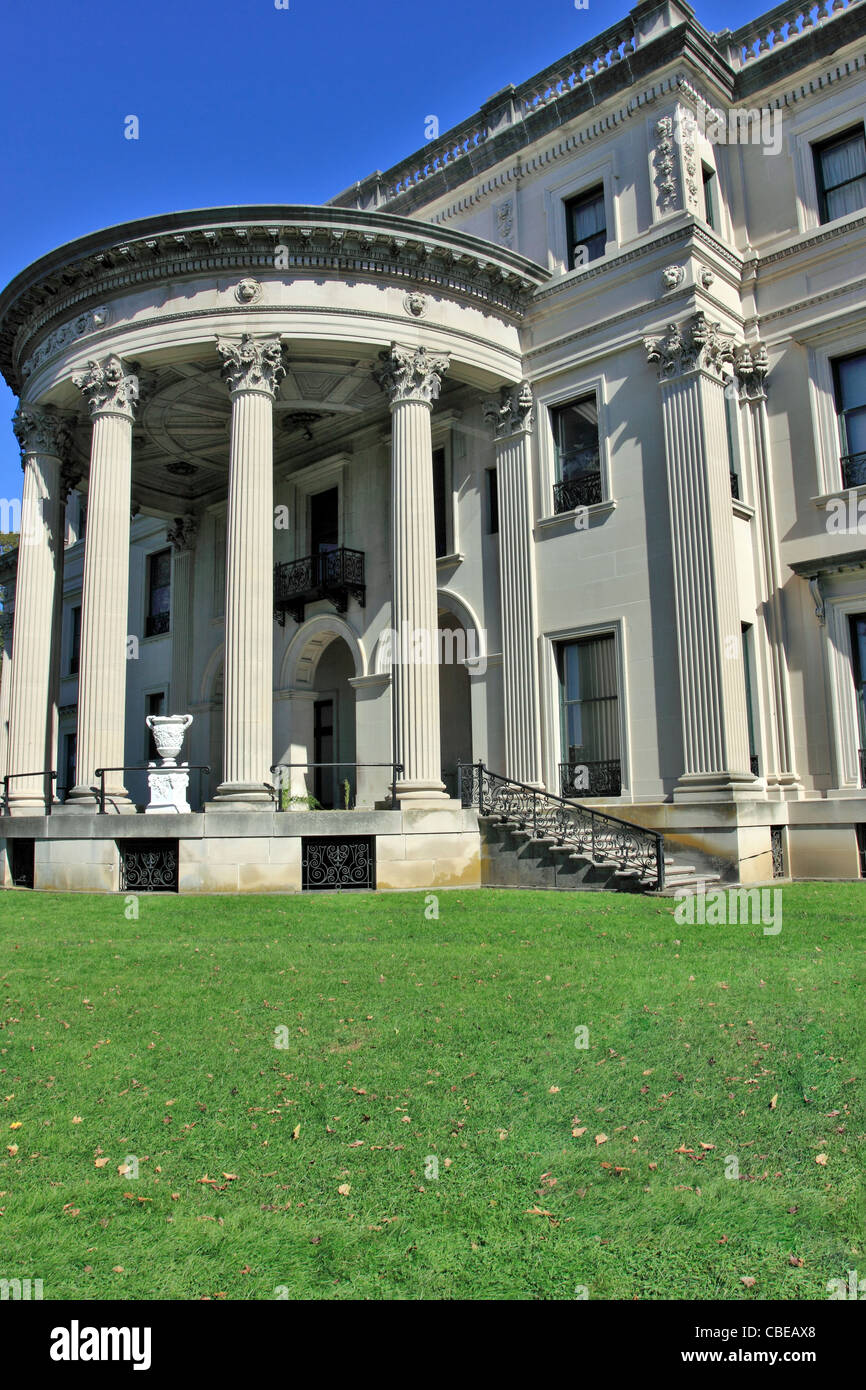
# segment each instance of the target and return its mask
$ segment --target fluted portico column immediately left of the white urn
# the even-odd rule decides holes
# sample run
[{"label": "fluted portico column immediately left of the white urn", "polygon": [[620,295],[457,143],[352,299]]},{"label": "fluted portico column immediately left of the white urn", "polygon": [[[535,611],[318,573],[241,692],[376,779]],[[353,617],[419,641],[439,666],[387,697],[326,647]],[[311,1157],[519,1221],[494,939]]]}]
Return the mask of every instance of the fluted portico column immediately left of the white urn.
[{"label": "fluted portico column immediately left of the white urn", "polygon": [[[65,809],[96,810],[97,767],[124,762],[129,616],[129,502],[138,377],[120,357],[72,378],[93,421],[78,666],[76,785]],[[122,773],[106,776],[106,810],[133,810]]]}]

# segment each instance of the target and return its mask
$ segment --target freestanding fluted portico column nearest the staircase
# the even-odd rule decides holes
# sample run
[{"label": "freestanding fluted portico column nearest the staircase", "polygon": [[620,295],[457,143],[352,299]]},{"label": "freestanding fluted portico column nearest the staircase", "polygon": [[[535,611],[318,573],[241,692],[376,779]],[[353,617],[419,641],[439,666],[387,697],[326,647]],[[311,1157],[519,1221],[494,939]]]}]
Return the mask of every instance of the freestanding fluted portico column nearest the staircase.
[{"label": "freestanding fluted portico column nearest the staircase", "polygon": [[402,802],[446,796],[439,751],[436,537],[430,416],[439,396],[446,353],[392,343],[379,353],[377,381],[392,414],[391,626],[399,651],[392,666],[393,756],[403,764]]}]

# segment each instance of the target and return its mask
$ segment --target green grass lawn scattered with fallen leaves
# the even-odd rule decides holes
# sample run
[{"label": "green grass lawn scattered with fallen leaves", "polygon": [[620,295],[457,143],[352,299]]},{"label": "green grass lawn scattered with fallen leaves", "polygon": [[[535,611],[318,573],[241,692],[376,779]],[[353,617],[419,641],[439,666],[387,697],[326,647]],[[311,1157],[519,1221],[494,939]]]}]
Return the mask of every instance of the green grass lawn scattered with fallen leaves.
[{"label": "green grass lawn scattered with fallen leaves", "polygon": [[777,935],[626,895],[425,901],[142,897],[126,920],[4,894],[0,1277],[795,1300],[866,1276],[866,885],[785,887]]}]

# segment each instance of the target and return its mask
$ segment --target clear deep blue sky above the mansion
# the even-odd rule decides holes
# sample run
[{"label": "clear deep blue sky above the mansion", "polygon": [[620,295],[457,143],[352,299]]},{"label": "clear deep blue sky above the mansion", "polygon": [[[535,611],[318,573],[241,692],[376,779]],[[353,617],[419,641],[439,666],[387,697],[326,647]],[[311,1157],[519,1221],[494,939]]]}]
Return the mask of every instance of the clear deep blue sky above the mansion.
[{"label": "clear deep blue sky above the mansion", "polygon": [[[708,29],[767,4],[698,3]],[[4,0],[0,282],[152,213],[321,203],[601,33],[628,0]],[[138,115],[140,139],[124,139]],[[0,495],[21,468],[0,381]]]}]

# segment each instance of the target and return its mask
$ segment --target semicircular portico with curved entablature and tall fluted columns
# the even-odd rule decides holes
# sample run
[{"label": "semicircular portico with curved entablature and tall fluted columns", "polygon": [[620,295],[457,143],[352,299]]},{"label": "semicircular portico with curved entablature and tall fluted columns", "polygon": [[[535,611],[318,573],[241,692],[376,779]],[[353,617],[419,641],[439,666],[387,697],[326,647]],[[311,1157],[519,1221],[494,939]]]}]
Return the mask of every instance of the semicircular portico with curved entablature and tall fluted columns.
[{"label": "semicircular portico with curved entablature and tall fluted columns", "polygon": [[[388,443],[391,624],[435,630],[436,410],[449,391],[470,389],[481,402],[521,381],[520,320],[545,278],[510,250],[388,214],[256,207],[111,228],[43,257],[7,288],[0,367],[19,391],[19,418],[31,421],[26,438],[19,432],[25,492],[43,496],[53,517],[61,478],[68,486],[76,473],[88,503],[78,769],[64,810],[96,809],[96,770],[124,763],[133,512],[168,527],[172,635],[182,644],[172,703],[200,684],[190,655],[196,534],[206,518],[224,527],[214,812],[272,806],[272,566],[275,538],[284,541],[275,484],[295,488],[288,524],[297,537],[310,488],[295,480],[317,457],[342,457],[350,473],[359,438]],[[33,420],[43,421],[39,436]],[[50,448],[44,421],[60,441]],[[39,787],[18,777],[50,762],[36,752],[56,738],[57,696],[50,641],[25,634],[51,632],[56,531],[50,520],[35,535],[15,602],[10,810],[31,815]],[[392,710],[399,801],[446,805],[435,660],[395,664]],[[122,771],[107,773],[106,787],[108,809],[135,809]]]}]

